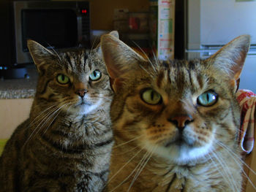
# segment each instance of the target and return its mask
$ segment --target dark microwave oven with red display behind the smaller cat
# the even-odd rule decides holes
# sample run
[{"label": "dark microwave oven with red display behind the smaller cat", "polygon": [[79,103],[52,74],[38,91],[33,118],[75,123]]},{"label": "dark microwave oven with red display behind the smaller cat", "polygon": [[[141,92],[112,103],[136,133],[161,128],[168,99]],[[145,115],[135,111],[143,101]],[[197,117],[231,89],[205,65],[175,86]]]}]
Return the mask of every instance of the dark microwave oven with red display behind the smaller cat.
[{"label": "dark microwave oven with red display behind the smaller cat", "polygon": [[[32,63],[27,39],[54,50],[90,48],[89,1],[9,1],[0,76]],[[8,38],[9,37],[9,38]],[[5,53],[4,53],[5,52]],[[22,77],[23,75],[21,75]]]}]

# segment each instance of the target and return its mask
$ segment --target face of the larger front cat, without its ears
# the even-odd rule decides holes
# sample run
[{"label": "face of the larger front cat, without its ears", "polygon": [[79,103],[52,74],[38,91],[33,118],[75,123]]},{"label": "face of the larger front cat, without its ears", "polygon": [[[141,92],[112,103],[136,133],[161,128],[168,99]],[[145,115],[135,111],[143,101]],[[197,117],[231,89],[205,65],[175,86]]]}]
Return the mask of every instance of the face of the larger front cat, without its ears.
[{"label": "face of the larger front cat, without its ears", "polygon": [[113,102],[113,110],[123,104],[115,128],[129,139],[141,136],[140,147],[179,162],[206,155],[224,135],[235,139],[239,117],[232,111],[238,106],[228,82],[201,65],[176,62],[155,66],[149,74],[136,72]]}]

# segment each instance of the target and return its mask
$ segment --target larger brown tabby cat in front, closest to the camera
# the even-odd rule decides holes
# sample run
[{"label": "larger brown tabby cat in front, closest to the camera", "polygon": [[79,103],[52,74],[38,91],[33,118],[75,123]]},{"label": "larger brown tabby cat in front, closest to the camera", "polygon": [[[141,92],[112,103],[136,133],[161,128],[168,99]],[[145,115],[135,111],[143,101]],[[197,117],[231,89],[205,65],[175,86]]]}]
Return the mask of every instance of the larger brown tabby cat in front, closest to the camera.
[{"label": "larger brown tabby cat in front, closest to the camera", "polygon": [[250,37],[206,60],[144,60],[105,35],[115,92],[109,191],[241,191],[236,80]]}]

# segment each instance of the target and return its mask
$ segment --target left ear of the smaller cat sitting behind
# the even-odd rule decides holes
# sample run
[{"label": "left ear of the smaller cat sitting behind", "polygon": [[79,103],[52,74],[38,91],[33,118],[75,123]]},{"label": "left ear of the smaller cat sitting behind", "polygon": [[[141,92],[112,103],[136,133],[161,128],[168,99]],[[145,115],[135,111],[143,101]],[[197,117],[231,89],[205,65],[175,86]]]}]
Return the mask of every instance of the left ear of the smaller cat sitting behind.
[{"label": "left ear of the smaller cat sitting behind", "polygon": [[47,48],[40,45],[38,42],[35,42],[31,39],[27,41],[27,46],[29,48],[29,52],[31,57],[34,60],[34,64],[36,64],[37,69],[40,69],[43,64],[45,64],[45,58],[54,57],[55,54],[48,50]]}]

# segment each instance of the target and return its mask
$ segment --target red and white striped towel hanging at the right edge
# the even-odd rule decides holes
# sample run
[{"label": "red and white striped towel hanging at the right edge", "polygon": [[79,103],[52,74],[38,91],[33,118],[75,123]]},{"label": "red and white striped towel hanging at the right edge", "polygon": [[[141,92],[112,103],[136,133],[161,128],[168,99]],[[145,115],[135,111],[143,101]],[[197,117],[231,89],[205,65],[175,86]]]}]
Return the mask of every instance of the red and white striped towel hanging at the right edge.
[{"label": "red and white striped towel hanging at the right edge", "polygon": [[244,153],[249,154],[255,142],[256,94],[246,89],[240,89],[236,96],[241,107],[240,146]]}]

